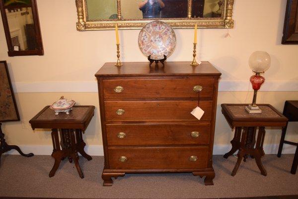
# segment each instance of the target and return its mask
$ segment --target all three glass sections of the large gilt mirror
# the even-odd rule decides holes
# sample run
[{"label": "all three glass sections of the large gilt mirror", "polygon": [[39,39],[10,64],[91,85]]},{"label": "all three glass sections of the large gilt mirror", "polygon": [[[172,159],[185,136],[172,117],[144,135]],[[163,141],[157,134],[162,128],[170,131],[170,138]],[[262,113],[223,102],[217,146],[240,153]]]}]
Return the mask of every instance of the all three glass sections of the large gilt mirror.
[{"label": "all three glass sections of the large gilt mirror", "polygon": [[[221,17],[223,0],[193,0],[192,18]],[[87,0],[88,19],[116,19],[117,0]],[[188,0],[121,0],[124,20],[187,18]]]}]

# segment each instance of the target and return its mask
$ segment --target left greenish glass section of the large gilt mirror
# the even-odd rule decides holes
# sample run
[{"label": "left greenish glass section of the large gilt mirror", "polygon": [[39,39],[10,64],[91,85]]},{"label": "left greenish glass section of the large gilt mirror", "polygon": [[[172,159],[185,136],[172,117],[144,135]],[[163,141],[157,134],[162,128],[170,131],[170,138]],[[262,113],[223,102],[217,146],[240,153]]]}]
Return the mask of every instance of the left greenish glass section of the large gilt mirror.
[{"label": "left greenish glass section of the large gilt mirror", "polygon": [[117,19],[117,0],[87,0],[88,20]]}]

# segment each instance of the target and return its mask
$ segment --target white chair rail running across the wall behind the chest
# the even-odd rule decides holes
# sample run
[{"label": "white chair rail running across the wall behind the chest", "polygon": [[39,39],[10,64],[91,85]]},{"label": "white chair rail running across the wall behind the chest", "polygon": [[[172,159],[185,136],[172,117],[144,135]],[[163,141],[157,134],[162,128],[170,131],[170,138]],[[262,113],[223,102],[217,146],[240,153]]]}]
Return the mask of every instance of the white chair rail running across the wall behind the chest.
[{"label": "white chair rail running across the wall behind the chest", "polygon": [[[12,83],[15,93],[97,93],[97,82]],[[252,91],[249,81],[220,81],[219,91]],[[298,81],[266,81],[260,91],[298,91]]]}]

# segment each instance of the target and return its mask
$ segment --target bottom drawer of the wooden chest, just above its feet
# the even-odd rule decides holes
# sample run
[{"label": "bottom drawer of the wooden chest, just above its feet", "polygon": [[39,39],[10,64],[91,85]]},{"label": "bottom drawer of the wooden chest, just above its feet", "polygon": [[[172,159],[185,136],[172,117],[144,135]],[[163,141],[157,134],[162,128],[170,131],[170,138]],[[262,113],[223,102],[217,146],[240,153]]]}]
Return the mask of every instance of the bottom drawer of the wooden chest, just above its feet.
[{"label": "bottom drawer of the wooden chest, just above its feet", "polygon": [[110,169],[206,168],[207,146],[202,147],[110,147]]}]

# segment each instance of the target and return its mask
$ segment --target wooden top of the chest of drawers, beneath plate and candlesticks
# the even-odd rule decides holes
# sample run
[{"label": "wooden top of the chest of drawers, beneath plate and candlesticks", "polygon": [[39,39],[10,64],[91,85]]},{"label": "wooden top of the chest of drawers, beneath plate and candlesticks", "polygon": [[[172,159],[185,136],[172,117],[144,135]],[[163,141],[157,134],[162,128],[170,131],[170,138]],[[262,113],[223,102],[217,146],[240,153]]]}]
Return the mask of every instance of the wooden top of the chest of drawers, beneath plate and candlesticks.
[{"label": "wooden top of the chest of drawers, beneath plate and candlesticks", "polygon": [[202,62],[199,66],[190,66],[189,62],[166,62],[158,67],[149,62],[124,62],[123,66],[116,67],[115,63],[105,63],[95,77],[109,76],[220,76],[219,72],[210,62]]}]

